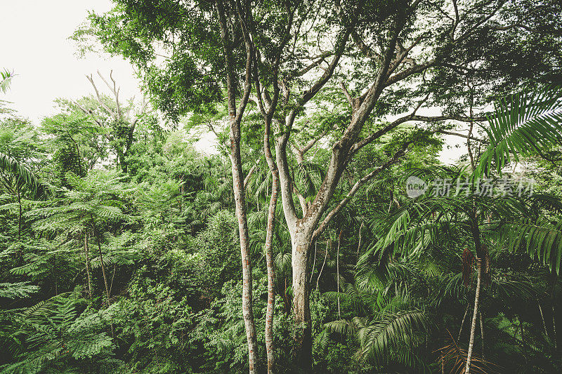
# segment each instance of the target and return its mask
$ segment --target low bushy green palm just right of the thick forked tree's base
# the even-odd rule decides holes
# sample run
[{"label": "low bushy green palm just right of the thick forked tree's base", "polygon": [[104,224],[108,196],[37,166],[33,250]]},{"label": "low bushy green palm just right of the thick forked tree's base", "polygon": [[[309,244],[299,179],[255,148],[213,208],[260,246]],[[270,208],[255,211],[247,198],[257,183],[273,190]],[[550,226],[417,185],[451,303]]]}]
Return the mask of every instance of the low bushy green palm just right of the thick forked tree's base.
[{"label": "low bushy green palm just right of the thick forked tree's base", "polygon": [[351,311],[348,318],[325,323],[316,338],[319,349],[327,345],[330,333],[347,336],[355,342],[358,363],[379,369],[388,365],[402,370],[424,367],[418,354],[429,334],[431,318],[424,305],[412,296],[403,280],[414,271],[414,265],[394,264],[385,282],[359,275],[355,284],[341,282],[341,292],[322,295],[342,309]]}]

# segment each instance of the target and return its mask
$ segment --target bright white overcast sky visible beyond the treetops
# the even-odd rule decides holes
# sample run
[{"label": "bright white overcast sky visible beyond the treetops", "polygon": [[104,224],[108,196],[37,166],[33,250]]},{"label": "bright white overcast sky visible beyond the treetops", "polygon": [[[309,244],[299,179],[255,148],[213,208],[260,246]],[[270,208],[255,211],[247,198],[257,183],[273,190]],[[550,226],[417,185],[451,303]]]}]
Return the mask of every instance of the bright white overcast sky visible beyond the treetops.
[{"label": "bright white overcast sky visible beyond the treetops", "polygon": [[[0,93],[0,100],[12,102],[11,107],[22,117],[38,124],[45,116],[55,114],[53,100],[77,99],[93,93],[85,74],[100,70],[113,77],[120,86],[122,100],[141,98],[138,79],[129,62],[89,53],[79,59],[74,41],[67,38],[86,20],[88,11],[103,13],[112,8],[109,0],[2,0],[0,11],[0,69],[15,72],[11,90]],[[97,79],[100,91],[105,85]],[[202,135],[196,148],[202,152],[216,152],[214,136]],[[446,136],[447,145],[464,143],[463,138]],[[441,161],[451,163],[466,153],[466,147],[447,149]]]}]

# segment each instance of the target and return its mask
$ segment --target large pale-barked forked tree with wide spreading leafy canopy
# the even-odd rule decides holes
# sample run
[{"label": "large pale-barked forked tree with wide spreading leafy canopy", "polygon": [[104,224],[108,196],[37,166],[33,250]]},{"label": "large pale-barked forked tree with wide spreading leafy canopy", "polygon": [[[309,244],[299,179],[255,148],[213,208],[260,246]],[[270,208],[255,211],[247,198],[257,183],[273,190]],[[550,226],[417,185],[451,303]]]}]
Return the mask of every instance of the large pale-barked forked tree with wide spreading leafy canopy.
[{"label": "large pale-barked forked tree with wide spreading leafy canopy", "polygon": [[[482,114],[471,108],[486,102],[487,95],[509,91],[531,79],[556,79],[560,59],[556,49],[561,41],[556,33],[559,20],[551,14],[558,10],[554,1],[544,8],[531,1],[491,0],[463,4],[455,0],[439,4],[310,1],[278,6],[221,1],[188,5],[171,0],[149,6],[118,1],[113,11],[92,15],[91,20],[107,51],[130,58],[145,72],[152,95],[170,116],[220,98],[218,88],[224,88],[229,121],[234,124],[230,145],[235,164],[240,148],[238,129],[250,98],[257,111],[266,114],[264,128],[268,121],[277,127],[275,161],[292,236],[294,361],[308,370],[311,316],[306,280],[312,243],[358,189],[396,163],[412,142],[388,155],[378,171],[360,177],[347,196],[332,206],[349,161],[362,147],[379,141],[401,123],[483,121]],[[165,15],[166,22],[156,20],[155,14]],[[426,22],[430,18],[434,20],[431,27]],[[331,40],[334,44],[328,42]],[[154,65],[156,42],[171,54],[159,69]],[[531,50],[533,56],[525,54]],[[176,84],[172,77],[178,79]],[[470,81],[469,88],[466,81]],[[299,193],[294,192],[287,147],[294,143],[299,127],[315,133],[313,139],[322,138],[322,131],[315,131],[306,115],[315,108],[320,111],[322,93],[331,88],[333,95],[341,84],[347,107],[333,116],[334,126],[327,129],[332,154],[325,176],[311,201],[303,204],[299,199],[298,211],[294,199]],[[174,100],[166,100],[162,86]],[[450,87],[455,94],[450,94]],[[424,104],[441,107],[442,114],[418,114]],[[332,109],[341,111],[336,105]],[[389,121],[391,113],[403,114]],[[306,151],[306,147],[297,149]],[[234,172],[242,180],[239,169]]]}]

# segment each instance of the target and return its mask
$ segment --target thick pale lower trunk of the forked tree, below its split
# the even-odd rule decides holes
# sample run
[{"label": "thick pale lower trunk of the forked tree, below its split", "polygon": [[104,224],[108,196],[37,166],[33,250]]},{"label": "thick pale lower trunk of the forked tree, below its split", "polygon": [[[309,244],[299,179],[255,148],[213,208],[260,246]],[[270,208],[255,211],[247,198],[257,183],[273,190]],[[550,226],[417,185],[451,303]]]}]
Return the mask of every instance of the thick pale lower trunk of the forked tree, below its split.
[{"label": "thick pale lower trunk of the forked tree, below its split", "polygon": [[293,315],[294,345],[293,362],[308,373],[312,370],[312,323],[310,289],[308,286],[307,260],[312,232],[294,233],[292,243],[293,267]]}]

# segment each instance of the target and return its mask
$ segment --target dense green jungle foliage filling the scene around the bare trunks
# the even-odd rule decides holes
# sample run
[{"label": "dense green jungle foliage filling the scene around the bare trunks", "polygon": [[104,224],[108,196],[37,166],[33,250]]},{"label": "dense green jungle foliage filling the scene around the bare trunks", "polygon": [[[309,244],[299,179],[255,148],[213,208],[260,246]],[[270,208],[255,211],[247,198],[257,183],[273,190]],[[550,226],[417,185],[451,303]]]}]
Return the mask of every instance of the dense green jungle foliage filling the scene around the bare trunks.
[{"label": "dense green jungle foliage filling the scene around the bare trunks", "polygon": [[[150,104],[123,104],[112,74],[106,80],[99,73],[112,97],[89,76],[95,95],[57,100],[57,114],[38,126],[0,101],[1,373],[248,371],[242,315],[247,284],[228,153],[230,108],[224,100],[227,67],[215,3],[183,3],[116,1],[105,15],[91,14],[91,29],[74,35],[96,36],[106,51],[131,60],[143,75]],[[420,19],[426,20],[444,2],[421,3]],[[471,35],[469,41],[445,40],[449,21],[431,28],[412,15],[400,26],[412,33],[403,42],[425,30],[419,41],[431,48],[435,69],[373,102],[326,202],[334,218],[307,243],[314,372],[459,373],[469,358],[471,373],[562,371],[562,90],[553,85],[560,79],[560,20],[540,7],[526,19],[532,1],[497,3],[496,8],[495,1],[459,1],[476,9],[463,19],[457,1],[444,8],[452,15],[457,11],[456,32]],[[224,4],[242,8],[237,1]],[[405,4],[410,2],[367,1],[354,25],[367,35],[391,34],[394,15],[411,16],[410,8],[400,11]],[[275,76],[284,84],[306,69],[302,60],[317,60],[313,68],[327,65],[325,59],[335,52],[315,58],[307,52],[325,48],[327,35],[338,46],[341,35],[334,30],[345,30],[359,6],[353,1],[286,5],[295,6],[295,20],[310,27],[311,36],[294,37],[296,51],[282,59],[285,76]],[[256,27],[263,32],[254,41],[256,49],[271,53],[259,74],[268,79],[278,73],[270,72],[268,63],[275,60],[275,41],[289,23],[281,8],[267,1],[255,6]],[[478,29],[492,8],[501,11]],[[501,22],[521,17],[529,33],[517,44],[520,27],[502,29]],[[238,43],[233,71],[242,75],[242,34],[236,34],[236,25],[229,27],[233,44]],[[498,30],[505,33],[497,36]],[[387,43],[386,36],[371,37]],[[348,32],[344,44],[348,38],[355,35]],[[160,65],[155,62],[159,48],[172,52]],[[397,55],[404,52],[400,48]],[[332,73],[347,79],[351,94],[368,92],[379,62],[358,58],[352,46],[339,53],[344,62]],[[512,53],[518,55],[510,60]],[[435,61],[440,65],[433,66]],[[415,60],[408,63],[418,66]],[[1,74],[0,93],[17,84],[13,74]],[[315,78],[295,79],[294,92],[306,97],[312,90],[305,87]],[[351,98],[342,86],[343,93],[336,84],[318,88],[295,126],[279,126],[275,133],[294,136],[287,147],[287,173],[292,203],[303,216],[322,189],[332,147],[358,116],[353,100],[360,97]],[[500,94],[503,100],[492,112],[490,104]],[[269,121],[285,121],[282,113],[296,105],[288,96]],[[427,120],[414,118],[414,111],[404,121],[389,121],[422,105],[451,116]],[[490,109],[489,121],[473,116],[478,105]],[[299,339],[292,313],[294,248],[282,203],[274,204],[275,225],[268,225],[275,178],[263,160],[258,107],[259,102],[249,105],[241,120],[257,356],[264,366],[272,286],[264,248],[270,230],[276,356],[270,371],[295,373],[303,366],[292,352]],[[457,113],[467,107],[470,118],[461,118]],[[439,158],[447,147],[441,134],[459,126],[446,121],[455,118],[469,123],[469,135],[460,134],[467,140],[459,149],[464,156],[445,165]],[[426,120],[431,125],[419,123]],[[201,132],[216,135],[216,152],[196,150]],[[411,194],[412,178],[426,182],[419,195]],[[521,185],[525,178],[534,180],[532,188]],[[488,194],[474,189],[483,188],[482,180],[496,183]],[[509,190],[498,185],[514,180],[519,184]],[[450,190],[438,189],[435,181],[446,181]]]}]

